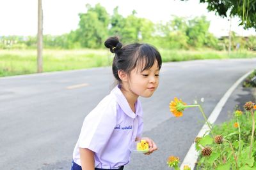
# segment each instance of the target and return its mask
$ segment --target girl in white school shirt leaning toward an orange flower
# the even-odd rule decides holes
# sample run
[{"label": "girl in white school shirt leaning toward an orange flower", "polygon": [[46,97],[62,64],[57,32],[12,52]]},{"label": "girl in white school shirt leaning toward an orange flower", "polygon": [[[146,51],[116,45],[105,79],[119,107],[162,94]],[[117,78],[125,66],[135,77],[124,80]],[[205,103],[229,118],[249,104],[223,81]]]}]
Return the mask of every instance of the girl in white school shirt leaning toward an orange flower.
[{"label": "girl in white school shirt leaning toward an orange flower", "polygon": [[157,146],[141,138],[143,111],[138,97],[150,97],[158,87],[162,60],[154,46],[133,43],[122,47],[117,37],[105,46],[115,53],[113,74],[118,85],[84,119],[73,153],[72,170],[124,169],[134,141],[148,142],[150,154]]}]

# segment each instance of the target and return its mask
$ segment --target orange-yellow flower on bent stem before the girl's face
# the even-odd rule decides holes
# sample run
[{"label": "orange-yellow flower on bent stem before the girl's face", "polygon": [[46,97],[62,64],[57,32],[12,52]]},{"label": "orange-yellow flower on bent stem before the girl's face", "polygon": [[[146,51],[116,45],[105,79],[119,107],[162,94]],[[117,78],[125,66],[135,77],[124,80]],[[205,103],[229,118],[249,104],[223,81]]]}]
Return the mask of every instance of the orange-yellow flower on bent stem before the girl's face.
[{"label": "orange-yellow flower on bent stem before the girl's face", "polygon": [[175,117],[182,117],[182,111],[184,111],[185,105],[186,103],[182,102],[181,99],[174,97],[174,101],[171,101],[169,105],[170,111],[173,113]]}]

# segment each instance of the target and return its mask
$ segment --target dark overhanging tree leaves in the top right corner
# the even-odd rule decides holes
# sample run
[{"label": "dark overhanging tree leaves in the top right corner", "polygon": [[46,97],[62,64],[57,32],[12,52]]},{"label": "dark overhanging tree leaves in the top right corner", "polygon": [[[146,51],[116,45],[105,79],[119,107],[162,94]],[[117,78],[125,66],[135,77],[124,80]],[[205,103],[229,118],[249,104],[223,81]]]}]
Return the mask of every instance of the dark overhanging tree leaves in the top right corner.
[{"label": "dark overhanging tree leaves in the top right corner", "polygon": [[250,0],[200,0],[207,3],[209,11],[215,11],[221,17],[237,16],[244,28],[254,27],[256,29],[256,1]]}]

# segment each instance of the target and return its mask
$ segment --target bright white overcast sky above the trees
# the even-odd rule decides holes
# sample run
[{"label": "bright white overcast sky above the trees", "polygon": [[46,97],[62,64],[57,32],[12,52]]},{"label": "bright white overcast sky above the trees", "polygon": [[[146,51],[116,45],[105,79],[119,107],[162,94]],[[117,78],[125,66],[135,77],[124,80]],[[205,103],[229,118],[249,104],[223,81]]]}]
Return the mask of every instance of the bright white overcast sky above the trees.
[{"label": "bright white overcast sky above the trees", "polygon": [[[79,13],[86,13],[86,4],[100,3],[109,15],[118,6],[118,11],[126,17],[136,10],[137,16],[148,18],[152,22],[166,22],[172,15],[194,18],[205,15],[211,21],[209,31],[215,36],[228,36],[230,21],[214,12],[207,11],[207,4],[199,0],[42,0],[44,13],[44,34],[60,35],[76,30]],[[239,18],[232,18],[231,30],[239,36],[256,35],[255,29],[244,30],[237,26]],[[1,0],[0,36],[35,36],[37,32],[37,0]]]}]

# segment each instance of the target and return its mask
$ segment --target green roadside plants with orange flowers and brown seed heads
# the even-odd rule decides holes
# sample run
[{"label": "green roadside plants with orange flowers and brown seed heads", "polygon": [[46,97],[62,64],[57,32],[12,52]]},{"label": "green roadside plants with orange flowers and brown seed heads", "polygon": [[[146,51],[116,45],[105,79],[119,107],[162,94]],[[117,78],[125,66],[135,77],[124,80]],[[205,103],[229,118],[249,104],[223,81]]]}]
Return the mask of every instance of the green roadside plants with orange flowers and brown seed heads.
[{"label": "green roadside plants with orange flowers and brown seed heads", "polygon": [[215,126],[209,124],[200,104],[189,105],[177,97],[170,103],[170,111],[175,117],[182,117],[183,112],[191,107],[199,108],[205,124],[209,127],[208,132],[196,137],[194,141],[196,150],[200,152],[197,169],[256,169],[254,141],[256,106],[252,101],[244,104],[245,112],[235,110],[229,122]]}]

